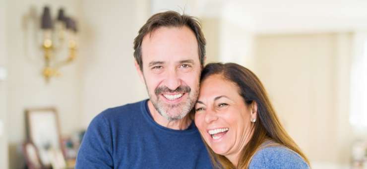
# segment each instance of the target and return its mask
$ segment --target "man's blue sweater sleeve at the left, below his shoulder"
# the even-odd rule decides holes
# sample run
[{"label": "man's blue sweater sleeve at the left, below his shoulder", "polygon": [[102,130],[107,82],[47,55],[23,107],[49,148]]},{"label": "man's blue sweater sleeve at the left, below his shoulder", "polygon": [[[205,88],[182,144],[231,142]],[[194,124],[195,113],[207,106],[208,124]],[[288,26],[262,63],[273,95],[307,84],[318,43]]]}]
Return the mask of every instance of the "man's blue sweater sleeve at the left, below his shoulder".
[{"label": "man's blue sweater sleeve at the left, below his shoulder", "polygon": [[103,113],[94,117],[84,134],[75,169],[112,169],[111,135],[111,128]]}]

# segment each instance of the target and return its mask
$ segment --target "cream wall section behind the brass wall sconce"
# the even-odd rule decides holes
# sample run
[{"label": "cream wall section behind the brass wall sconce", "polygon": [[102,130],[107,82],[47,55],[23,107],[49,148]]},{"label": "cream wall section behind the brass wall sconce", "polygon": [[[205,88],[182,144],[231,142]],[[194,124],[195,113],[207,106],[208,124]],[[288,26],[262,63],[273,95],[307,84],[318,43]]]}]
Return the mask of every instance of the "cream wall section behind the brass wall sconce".
[{"label": "cream wall section behind the brass wall sconce", "polygon": [[38,36],[35,31],[39,30],[37,18],[41,15],[45,4],[50,5],[54,17],[61,6],[65,7],[66,14],[79,16],[80,1],[8,0],[6,2],[5,43],[8,68],[6,128],[9,168],[19,169],[24,165],[20,149],[26,136],[24,109],[54,106],[59,111],[61,134],[69,134],[79,129],[80,76],[77,62],[82,56],[79,55],[75,62],[62,67],[61,77],[51,79],[49,84],[45,83],[41,75],[43,68],[41,42],[37,42]]}]

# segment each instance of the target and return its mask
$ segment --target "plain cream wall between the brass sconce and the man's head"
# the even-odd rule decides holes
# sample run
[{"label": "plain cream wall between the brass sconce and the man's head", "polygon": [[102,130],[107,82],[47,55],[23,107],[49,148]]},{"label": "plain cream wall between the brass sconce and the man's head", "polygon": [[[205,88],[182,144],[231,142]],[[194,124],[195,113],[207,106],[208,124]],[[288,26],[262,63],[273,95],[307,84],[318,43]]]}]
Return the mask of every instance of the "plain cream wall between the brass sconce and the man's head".
[{"label": "plain cream wall between the brass sconce and the man's head", "polygon": [[133,40],[149,15],[148,0],[83,0],[81,123],[103,110],[147,98],[134,67]]}]

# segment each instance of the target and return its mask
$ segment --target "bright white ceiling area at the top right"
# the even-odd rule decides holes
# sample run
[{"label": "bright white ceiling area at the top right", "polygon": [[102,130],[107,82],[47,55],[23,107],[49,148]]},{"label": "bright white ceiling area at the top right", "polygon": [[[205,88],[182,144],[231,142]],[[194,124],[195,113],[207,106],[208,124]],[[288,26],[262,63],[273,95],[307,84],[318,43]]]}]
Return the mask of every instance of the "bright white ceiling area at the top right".
[{"label": "bright white ceiling area at the top right", "polygon": [[255,32],[353,31],[367,28],[367,0],[227,0],[223,17]]}]

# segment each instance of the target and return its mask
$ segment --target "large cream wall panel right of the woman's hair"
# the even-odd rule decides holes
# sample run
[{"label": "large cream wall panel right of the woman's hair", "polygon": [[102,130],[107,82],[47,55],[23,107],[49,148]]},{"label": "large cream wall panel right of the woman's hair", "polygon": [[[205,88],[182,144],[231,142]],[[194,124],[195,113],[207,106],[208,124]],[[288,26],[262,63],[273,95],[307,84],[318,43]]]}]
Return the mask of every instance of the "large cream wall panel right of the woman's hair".
[{"label": "large cream wall panel right of the woman's hair", "polygon": [[315,168],[348,166],[350,33],[260,35],[256,70],[286,130]]}]

